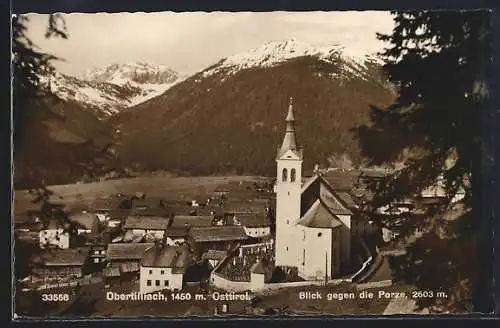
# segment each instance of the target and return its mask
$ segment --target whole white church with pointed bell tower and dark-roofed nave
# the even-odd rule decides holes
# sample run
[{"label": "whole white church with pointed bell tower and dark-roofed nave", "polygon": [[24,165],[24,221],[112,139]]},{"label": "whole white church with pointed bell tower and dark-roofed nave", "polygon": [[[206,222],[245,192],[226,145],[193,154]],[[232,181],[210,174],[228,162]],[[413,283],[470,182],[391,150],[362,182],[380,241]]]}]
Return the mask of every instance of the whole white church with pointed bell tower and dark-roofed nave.
[{"label": "whole white church with pointed bell tower and dark-roofed nave", "polygon": [[276,156],[275,265],[297,268],[305,280],[332,279],[349,267],[353,213],[319,170],[303,179],[293,99]]}]

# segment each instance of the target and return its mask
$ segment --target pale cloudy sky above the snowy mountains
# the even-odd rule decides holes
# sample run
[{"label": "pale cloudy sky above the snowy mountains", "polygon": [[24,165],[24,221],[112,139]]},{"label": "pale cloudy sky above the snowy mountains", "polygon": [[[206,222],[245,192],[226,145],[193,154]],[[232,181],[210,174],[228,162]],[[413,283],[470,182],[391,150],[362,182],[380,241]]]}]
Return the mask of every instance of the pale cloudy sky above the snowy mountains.
[{"label": "pale cloudy sky above the snowy mountains", "polygon": [[61,73],[80,76],[110,64],[147,62],[195,73],[262,43],[294,37],[312,46],[341,44],[350,53],[383,49],[389,12],[189,12],[64,14],[69,38],[44,37],[48,15],[28,14],[28,36]]}]

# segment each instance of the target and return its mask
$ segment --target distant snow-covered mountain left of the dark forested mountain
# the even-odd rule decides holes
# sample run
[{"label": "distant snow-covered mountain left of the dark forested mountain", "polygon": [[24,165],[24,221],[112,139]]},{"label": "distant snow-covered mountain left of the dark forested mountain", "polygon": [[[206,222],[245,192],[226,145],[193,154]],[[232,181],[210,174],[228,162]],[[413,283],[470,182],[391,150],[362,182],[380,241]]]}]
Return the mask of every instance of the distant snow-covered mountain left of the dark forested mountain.
[{"label": "distant snow-covered mountain left of the dark forested mountain", "polygon": [[129,63],[88,70],[82,77],[54,73],[41,82],[60,99],[78,102],[104,119],[159,96],[184,78],[165,66]]}]

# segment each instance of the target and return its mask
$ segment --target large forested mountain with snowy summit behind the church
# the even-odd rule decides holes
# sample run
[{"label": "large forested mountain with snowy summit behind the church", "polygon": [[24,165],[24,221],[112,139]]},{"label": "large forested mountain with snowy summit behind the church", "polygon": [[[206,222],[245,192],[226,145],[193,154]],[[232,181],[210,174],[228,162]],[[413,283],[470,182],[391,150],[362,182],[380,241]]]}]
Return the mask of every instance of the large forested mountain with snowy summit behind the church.
[{"label": "large forested mountain with snowy summit behind the church", "polygon": [[272,174],[290,97],[305,165],[343,154],[361,163],[354,131],[393,93],[381,66],[355,50],[288,39],[224,58],[111,118],[120,130],[121,163],[191,174]]}]

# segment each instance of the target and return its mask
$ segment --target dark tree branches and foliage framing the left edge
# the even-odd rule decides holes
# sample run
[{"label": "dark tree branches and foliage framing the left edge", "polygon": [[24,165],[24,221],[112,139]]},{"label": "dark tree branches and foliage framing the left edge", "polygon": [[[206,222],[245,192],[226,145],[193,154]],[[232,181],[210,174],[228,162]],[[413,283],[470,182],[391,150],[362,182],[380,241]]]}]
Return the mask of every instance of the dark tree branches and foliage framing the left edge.
[{"label": "dark tree branches and foliage framing the left edge", "polygon": [[[13,119],[14,119],[14,161],[19,155],[16,150],[25,141],[23,133],[28,129],[31,121],[40,119],[44,115],[57,115],[50,111],[50,105],[59,101],[50,93],[47,85],[41,83],[41,77],[48,76],[54,72],[52,65],[54,60],[60,60],[58,57],[44,53],[29,39],[27,35],[29,18],[25,15],[15,15],[12,18],[12,70],[13,70]],[[47,31],[45,37],[68,38],[64,19],[59,14],[52,14],[48,17]],[[50,101],[46,101],[50,99]],[[42,115],[37,111],[44,111]],[[52,113],[52,114],[51,114]],[[43,131],[44,132],[44,131]],[[33,137],[31,135],[31,137]],[[35,136],[36,137],[36,136]],[[109,153],[109,145],[97,147],[92,140],[75,145],[85,150],[84,157],[80,157],[81,170],[88,172],[90,176],[101,175],[110,168],[110,160],[113,159]],[[71,149],[69,149],[71,150]],[[57,160],[57,159],[54,159]],[[61,204],[53,201],[53,192],[47,186],[43,170],[29,164],[32,174],[28,189],[32,194],[32,202],[39,205],[39,218],[42,224],[48,220],[58,220],[59,223],[68,232],[75,232],[74,224],[68,220],[68,213],[62,208]],[[26,244],[15,235],[15,263],[14,270],[16,278],[24,277],[29,274],[31,265],[30,258],[37,255],[38,247]],[[17,285],[19,287],[19,285]],[[32,293],[33,294],[33,293]],[[47,314],[46,304],[42,304],[40,297],[32,294],[25,295],[24,298],[16,297],[16,313],[24,315],[45,315]]]}]

